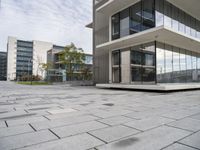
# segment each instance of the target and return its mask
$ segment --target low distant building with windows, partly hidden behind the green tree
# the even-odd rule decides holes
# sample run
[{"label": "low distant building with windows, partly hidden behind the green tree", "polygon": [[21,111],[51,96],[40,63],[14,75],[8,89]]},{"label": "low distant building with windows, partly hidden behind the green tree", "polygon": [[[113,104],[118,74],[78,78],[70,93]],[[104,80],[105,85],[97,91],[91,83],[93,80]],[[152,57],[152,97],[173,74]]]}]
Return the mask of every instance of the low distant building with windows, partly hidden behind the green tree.
[{"label": "low distant building with windows, partly hidden behind the green tree", "polygon": [[[47,52],[47,64],[49,64],[49,69],[47,71],[47,78],[50,81],[57,81],[57,82],[64,82],[69,80],[67,74],[66,74],[66,65],[64,65],[59,60],[59,55],[62,54],[64,51],[64,47],[61,46],[54,46],[51,50]],[[84,67],[88,68],[88,71],[92,75],[92,60],[93,56],[91,54],[85,53],[85,61]],[[82,68],[78,64],[73,64],[74,72],[73,76],[74,79],[72,80],[78,80],[76,79],[76,75],[82,73]]]}]

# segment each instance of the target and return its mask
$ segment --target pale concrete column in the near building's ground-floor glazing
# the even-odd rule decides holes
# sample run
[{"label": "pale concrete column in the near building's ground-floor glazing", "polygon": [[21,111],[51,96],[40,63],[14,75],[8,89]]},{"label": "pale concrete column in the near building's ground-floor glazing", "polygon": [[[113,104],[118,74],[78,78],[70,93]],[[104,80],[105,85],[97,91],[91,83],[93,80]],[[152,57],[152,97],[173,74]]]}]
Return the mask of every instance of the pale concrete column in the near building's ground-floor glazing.
[{"label": "pale concrete column in the near building's ground-floor glazing", "polygon": [[121,52],[121,83],[130,83],[130,51]]}]

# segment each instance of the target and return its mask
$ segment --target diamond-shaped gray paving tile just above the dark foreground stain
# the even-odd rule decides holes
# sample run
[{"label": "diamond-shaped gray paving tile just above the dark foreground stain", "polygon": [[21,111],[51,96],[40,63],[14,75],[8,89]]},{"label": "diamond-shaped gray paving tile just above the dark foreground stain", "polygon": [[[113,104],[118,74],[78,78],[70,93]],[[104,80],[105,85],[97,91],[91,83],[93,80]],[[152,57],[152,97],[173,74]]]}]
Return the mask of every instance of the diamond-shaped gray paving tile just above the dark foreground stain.
[{"label": "diamond-shaped gray paving tile just above the dark foreground stain", "polygon": [[139,133],[139,131],[129,128],[129,127],[119,125],[119,126],[99,129],[96,131],[91,131],[89,133],[94,135],[95,137],[102,139],[105,142],[112,142],[112,141],[130,136],[130,135]]}]

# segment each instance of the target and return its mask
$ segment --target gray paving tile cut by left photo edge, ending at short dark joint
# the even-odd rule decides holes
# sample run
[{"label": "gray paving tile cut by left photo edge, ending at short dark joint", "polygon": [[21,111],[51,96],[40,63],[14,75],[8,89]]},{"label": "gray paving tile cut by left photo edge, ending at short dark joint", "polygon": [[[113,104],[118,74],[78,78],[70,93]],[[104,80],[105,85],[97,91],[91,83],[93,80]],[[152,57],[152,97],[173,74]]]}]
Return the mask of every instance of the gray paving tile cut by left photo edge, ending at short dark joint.
[{"label": "gray paving tile cut by left photo edge, ending at short dark joint", "polygon": [[33,131],[34,130],[29,125],[1,128],[0,129],[0,137],[17,135],[17,134],[33,132]]}]

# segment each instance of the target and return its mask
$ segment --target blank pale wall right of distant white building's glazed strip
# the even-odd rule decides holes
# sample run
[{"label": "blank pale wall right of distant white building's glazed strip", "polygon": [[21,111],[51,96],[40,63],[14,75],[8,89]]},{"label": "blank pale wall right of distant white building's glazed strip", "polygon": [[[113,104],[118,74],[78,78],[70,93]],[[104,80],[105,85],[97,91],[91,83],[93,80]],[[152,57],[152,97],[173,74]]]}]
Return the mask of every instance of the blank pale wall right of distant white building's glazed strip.
[{"label": "blank pale wall right of distant white building's glazed strip", "polygon": [[33,75],[45,77],[45,72],[41,69],[40,64],[47,63],[47,51],[52,48],[52,43],[33,41]]}]

